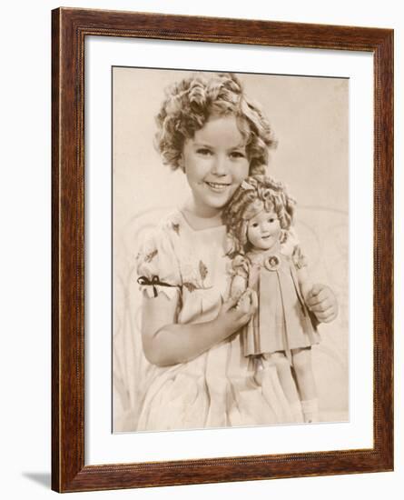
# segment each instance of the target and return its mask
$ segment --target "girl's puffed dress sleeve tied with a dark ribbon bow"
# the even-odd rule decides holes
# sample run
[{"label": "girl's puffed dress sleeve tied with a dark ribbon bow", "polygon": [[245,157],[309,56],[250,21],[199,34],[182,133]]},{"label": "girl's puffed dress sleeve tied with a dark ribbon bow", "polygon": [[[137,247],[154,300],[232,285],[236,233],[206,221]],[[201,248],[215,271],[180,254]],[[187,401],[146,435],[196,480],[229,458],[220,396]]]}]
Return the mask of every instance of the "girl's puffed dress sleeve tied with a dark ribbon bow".
[{"label": "girl's puffed dress sleeve tied with a dark ribbon bow", "polygon": [[148,235],[136,257],[137,282],[149,297],[161,293],[174,298],[182,285],[180,268],[170,235],[158,228]]}]

